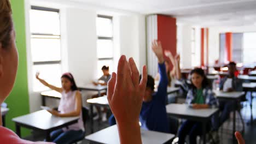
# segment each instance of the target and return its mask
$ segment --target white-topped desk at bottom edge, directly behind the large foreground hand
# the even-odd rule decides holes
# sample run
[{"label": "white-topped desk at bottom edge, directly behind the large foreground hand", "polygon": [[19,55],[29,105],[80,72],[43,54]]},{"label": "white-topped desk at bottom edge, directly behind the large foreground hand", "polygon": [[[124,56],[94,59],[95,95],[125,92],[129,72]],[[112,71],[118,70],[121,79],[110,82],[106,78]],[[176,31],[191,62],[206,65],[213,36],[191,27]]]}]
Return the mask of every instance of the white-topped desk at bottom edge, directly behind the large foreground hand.
[{"label": "white-topped desk at bottom edge, directly behind the large foreground hand", "polygon": [[[141,129],[142,143],[166,143],[171,142],[173,138],[173,134]],[[94,134],[86,136],[85,139],[96,143],[120,143],[117,125],[97,131]]]}]

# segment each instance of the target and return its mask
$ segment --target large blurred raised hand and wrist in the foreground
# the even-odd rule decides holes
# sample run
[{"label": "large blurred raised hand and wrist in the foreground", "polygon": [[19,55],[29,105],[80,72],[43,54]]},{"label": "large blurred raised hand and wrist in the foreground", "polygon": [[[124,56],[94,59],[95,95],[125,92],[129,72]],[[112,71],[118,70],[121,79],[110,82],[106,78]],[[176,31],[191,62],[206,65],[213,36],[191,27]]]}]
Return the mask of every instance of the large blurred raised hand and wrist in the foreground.
[{"label": "large blurred raised hand and wrist in the foreground", "polygon": [[141,82],[138,83],[138,81],[139,72],[133,59],[130,58],[128,64],[126,57],[121,56],[118,62],[117,74],[112,74],[108,82],[107,92],[110,109],[117,120],[121,144],[142,143],[138,122],[142,98],[146,91],[146,66],[142,70]]}]

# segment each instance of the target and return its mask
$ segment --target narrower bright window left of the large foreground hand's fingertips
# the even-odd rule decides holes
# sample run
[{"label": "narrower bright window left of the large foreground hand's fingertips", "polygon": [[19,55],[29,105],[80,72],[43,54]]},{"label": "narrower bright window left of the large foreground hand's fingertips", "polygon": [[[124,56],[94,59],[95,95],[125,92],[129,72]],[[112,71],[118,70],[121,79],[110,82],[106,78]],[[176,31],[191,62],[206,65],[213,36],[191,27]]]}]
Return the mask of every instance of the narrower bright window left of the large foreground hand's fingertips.
[{"label": "narrower bright window left of the large foreground hand's fingertips", "polygon": [[109,71],[114,67],[114,46],[113,46],[113,21],[111,16],[98,15],[97,28],[97,76],[102,75],[102,66],[109,66]]}]

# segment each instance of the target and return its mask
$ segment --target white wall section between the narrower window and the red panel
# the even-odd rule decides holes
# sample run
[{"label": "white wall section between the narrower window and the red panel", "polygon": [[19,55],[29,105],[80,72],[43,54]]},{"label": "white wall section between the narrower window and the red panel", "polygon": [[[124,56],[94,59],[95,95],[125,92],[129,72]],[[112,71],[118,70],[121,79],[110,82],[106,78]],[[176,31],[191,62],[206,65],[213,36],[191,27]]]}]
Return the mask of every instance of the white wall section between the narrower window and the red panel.
[{"label": "white wall section between the narrower window and the red panel", "polygon": [[120,54],[133,57],[138,69],[146,65],[146,32],[144,16],[120,16]]}]

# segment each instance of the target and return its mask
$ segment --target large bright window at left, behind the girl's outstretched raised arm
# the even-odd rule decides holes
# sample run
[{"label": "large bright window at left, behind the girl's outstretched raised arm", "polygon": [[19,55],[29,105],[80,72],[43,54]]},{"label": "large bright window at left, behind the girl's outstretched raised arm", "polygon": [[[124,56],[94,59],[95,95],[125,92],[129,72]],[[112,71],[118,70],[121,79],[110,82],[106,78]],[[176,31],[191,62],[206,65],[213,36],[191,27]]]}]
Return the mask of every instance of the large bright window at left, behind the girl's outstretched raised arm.
[{"label": "large bright window at left, behind the girl's outstretched raised arm", "polygon": [[30,10],[31,53],[33,62],[33,91],[48,88],[36,80],[40,77],[55,86],[61,86],[61,35],[59,10],[31,7]]}]

